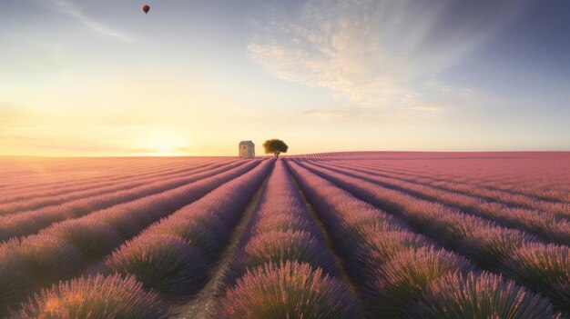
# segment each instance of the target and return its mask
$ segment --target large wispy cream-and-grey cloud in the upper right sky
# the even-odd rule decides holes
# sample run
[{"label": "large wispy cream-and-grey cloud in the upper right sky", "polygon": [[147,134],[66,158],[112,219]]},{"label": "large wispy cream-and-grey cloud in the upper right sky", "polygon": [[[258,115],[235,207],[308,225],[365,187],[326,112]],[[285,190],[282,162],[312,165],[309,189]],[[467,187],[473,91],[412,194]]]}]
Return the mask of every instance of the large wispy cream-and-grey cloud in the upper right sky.
[{"label": "large wispy cream-and-grey cloud in the upper right sky", "polygon": [[308,114],[406,107],[440,113],[444,106],[434,105],[441,96],[465,92],[438,75],[496,35],[522,3],[309,0],[298,16],[266,25],[249,55],[271,75],[328,88],[350,106]]}]

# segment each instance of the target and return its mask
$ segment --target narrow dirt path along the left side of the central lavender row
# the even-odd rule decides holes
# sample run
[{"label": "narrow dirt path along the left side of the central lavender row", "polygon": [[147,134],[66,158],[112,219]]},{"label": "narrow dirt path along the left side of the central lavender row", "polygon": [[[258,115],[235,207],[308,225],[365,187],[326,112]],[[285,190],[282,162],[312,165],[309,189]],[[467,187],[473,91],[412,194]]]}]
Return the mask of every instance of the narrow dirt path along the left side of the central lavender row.
[{"label": "narrow dirt path along the left side of the central lavender row", "polygon": [[265,179],[260,185],[260,188],[251,197],[248,206],[245,209],[243,217],[239,224],[234,228],[231,236],[229,237],[229,245],[219,257],[219,262],[209,270],[209,282],[202,288],[202,290],[187,304],[174,304],[170,306],[171,318],[177,319],[209,319],[212,317],[212,312],[216,301],[225,293],[224,274],[229,270],[229,266],[234,259],[235,254],[238,252],[241,237],[248,229],[249,222],[255,214],[258,203],[260,202],[261,194],[265,190],[265,185],[270,179],[267,174]]}]

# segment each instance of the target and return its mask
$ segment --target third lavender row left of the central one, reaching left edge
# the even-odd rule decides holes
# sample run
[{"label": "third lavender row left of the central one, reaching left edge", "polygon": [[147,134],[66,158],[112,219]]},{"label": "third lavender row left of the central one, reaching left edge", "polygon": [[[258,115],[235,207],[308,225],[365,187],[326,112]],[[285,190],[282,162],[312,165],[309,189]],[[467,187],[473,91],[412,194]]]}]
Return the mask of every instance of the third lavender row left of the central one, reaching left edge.
[{"label": "third lavender row left of the central one, reaching left edge", "polygon": [[187,177],[174,178],[126,191],[112,194],[101,194],[98,196],[78,199],[59,206],[48,206],[35,211],[5,215],[0,217],[0,241],[11,237],[34,234],[42,228],[56,222],[73,219],[85,214],[93,214],[100,209],[105,209],[107,207],[113,208],[117,204],[120,205],[139,198],[160,194],[161,192],[165,192],[170,189],[183,187],[189,183],[194,183],[204,178],[209,178],[210,176],[228,172],[242,164],[243,162],[232,163],[206,172],[190,174]]}]

